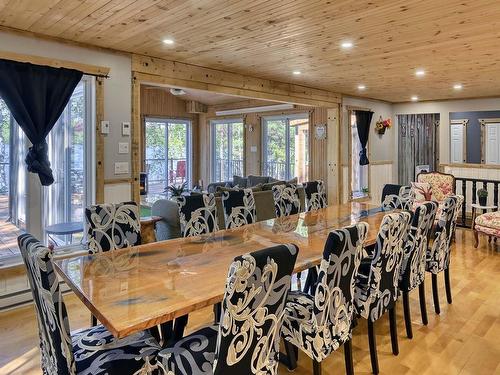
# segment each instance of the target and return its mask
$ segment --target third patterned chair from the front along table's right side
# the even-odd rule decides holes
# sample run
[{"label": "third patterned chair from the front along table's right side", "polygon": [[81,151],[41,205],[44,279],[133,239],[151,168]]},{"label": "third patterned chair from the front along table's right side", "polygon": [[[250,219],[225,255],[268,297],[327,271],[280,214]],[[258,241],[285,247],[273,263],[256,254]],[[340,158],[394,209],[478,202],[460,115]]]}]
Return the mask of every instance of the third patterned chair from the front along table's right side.
[{"label": "third patterned chair from the front along table's right side", "polygon": [[361,262],[356,278],[356,310],[368,320],[368,341],[374,374],[379,372],[374,323],[386,311],[389,311],[392,353],[399,354],[395,307],[403,243],[408,235],[410,220],[411,214],[406,211],[384,216],[377,242],[368,261]]}]

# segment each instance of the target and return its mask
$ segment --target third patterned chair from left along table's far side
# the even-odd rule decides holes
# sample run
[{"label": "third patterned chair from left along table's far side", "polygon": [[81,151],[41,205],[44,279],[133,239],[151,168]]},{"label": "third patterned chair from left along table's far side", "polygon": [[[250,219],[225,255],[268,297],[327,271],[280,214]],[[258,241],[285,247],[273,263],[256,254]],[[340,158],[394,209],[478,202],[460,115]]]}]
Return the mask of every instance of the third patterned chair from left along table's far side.
[{"label": "third patterned chair from left along table's far side", "polygon": [[238,228],[257,221],[252,189],[222,192],[226,229]]}]

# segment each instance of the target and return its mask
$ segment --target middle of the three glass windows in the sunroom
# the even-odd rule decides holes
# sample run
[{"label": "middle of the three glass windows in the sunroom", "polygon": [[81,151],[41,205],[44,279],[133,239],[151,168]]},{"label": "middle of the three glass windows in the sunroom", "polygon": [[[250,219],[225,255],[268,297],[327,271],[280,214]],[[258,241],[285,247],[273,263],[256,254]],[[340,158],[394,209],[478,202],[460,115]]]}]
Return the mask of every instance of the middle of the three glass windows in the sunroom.
[{"label": "middle of the three glass windows in the sunroom", "polygon": [[241,119],[213,120],[212,182],[244,175],[244,126]]}]

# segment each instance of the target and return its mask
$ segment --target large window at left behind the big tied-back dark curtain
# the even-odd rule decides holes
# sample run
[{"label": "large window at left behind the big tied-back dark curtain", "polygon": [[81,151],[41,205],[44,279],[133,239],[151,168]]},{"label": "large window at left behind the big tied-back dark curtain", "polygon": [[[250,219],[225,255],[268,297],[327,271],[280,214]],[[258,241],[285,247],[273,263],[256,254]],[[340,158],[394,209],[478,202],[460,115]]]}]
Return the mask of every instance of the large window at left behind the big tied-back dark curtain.
[{"label": "large window at left behind the big tied-back dark curtain", "polygon": [[45,243],[67,248],[83,236],[47,235],[53,224],[80,223],[94,202],[94,79],[84,76],[47,136],[54,183],[41,187],[26,170],[29,141],[0,99],[0,260],[20,257],[16,236],[29,231]]}]

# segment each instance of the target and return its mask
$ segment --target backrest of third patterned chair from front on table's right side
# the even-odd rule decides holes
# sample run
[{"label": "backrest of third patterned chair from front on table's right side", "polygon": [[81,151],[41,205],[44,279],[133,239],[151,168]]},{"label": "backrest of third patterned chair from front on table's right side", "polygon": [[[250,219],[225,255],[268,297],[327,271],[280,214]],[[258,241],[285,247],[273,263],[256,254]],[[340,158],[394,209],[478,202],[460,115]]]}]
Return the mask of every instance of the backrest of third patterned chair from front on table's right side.
[{"label": "backrest of third patterned chair from front on table's right side", "polygon": [[382,219],[368,275],[368,299],[360,311],[366,319],[375,321],[394,306],[410,220],[411,214],[406,211]]}]

